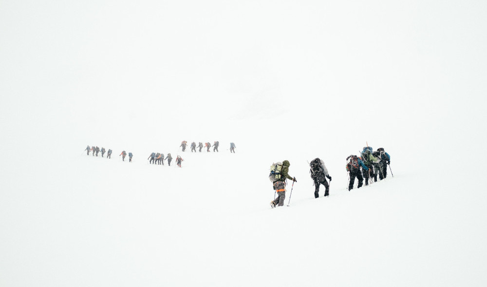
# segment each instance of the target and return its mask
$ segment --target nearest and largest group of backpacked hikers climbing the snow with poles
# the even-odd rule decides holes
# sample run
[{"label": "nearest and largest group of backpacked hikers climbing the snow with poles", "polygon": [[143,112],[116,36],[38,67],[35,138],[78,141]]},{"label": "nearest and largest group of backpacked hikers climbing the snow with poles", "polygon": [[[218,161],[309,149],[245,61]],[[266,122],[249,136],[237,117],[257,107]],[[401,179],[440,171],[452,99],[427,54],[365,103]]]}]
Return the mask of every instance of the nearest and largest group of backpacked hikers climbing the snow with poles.
[{"label": "nearest and largest group of backpacked hikers climbing the snow with poles", "polygon": [[[349,176],[348,191],[354,188],[355,179],[358,179],[357,188],[363,185],[365,179],[365,185],[369,185],[369,179],[377,181],[377,175],[379,180],[385,179],[387,176],[387,166],[391,164],[391,156],[384,150],[384,148],[378,148],[373,151],[370,146],[365,146],[360,153],[360,157],[356,155],[350,155],[347,157],[346,170]],[[273,163],[270,167],[269,180],[272,182],[274,192],[274,200],[270,202],[271,208],[276,206],[283,206],[284,199],[286,197],[286,179],[290,179],[294,182],[298,182],[295,177],[289,175],[289,161],[282,161]],[[319,186],[322,184],[325,187],[324,196],[329,196],[330,182],[332,177],[328,173],[328,169],[325,166],[323,160],[319,158],[309,162],[310,176],[315,185],[315,198],[318,198]],[[391,166],[389,166],[391,168]],[[392,171],[391,171],[392,174]],[[293,189],[291,187],[291,193]],[[276,198],[277,195],[277,198]],[[289,201],[291,200],[289,196]],[[289,204],[289,203],[288,203]]]}]

